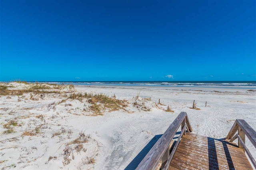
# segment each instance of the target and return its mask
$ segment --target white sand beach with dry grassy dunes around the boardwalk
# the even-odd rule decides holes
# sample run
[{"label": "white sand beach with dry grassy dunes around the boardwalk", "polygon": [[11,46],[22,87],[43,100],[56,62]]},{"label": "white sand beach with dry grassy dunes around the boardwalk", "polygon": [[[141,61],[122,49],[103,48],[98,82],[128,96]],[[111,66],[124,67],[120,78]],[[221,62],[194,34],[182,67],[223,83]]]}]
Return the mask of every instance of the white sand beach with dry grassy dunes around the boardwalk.
[{"label": "white sand beach with dry grassy dunes around the boardwalk", "polygon": [[2,170],[135,169],[181,111],[195,134],[225,138],[236,119],[256,130],[255,87],[0,86]]}]

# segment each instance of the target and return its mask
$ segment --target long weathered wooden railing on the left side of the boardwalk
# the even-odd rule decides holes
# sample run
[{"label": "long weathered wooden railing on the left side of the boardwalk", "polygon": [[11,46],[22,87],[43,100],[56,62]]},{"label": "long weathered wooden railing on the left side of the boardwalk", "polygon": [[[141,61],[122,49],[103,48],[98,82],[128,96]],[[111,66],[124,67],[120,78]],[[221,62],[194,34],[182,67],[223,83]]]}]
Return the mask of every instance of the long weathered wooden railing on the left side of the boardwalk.
[{"label": "long weathered wooden railing on the left side of the boardwalk", "polygon": [[[174,145],[171,153],[170,149],[174,143],[173,137],[178,131],[181,125],[181,133]],[[188,120],[186,112],[181,112],[178,117],[172,122],[170,127],[164,132],[162,137],[156,142],[152,149],[146,154],[144,159],[140,162],[136,170],[167,170],[169,164],[174,156],[174,153],[180,143],[180,139],[183,135],[186,135],[186,129],[188,132],[192,132],[192,127]]]}]

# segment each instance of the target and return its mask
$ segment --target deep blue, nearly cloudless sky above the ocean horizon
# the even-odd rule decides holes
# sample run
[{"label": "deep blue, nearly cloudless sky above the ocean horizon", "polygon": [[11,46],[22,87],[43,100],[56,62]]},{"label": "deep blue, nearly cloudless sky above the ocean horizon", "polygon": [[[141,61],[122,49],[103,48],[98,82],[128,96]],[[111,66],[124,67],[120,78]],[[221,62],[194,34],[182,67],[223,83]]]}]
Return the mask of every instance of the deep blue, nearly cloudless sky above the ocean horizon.
[{"label": "deep blue, nearly cloudless sky above the ocean horizon", "polygon": [[1,0],[0,81],[18,79],[256,80],[256,1]]}]

